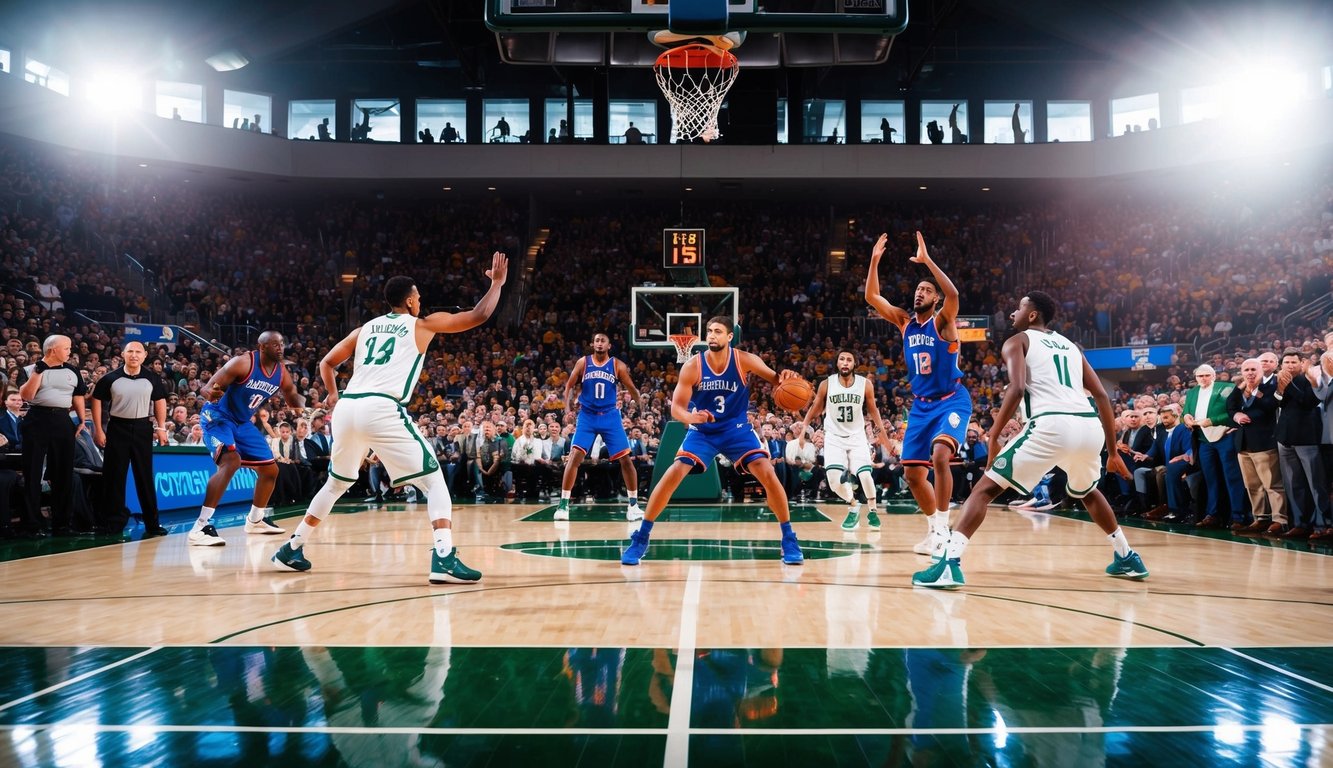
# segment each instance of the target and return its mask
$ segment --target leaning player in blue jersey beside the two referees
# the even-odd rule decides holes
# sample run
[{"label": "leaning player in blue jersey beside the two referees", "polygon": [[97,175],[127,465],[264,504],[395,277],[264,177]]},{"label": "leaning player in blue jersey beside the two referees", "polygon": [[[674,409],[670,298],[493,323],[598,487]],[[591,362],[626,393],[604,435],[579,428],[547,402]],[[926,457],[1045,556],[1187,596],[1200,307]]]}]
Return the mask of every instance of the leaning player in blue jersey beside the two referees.
[{"label": "leaning player in blue jersey beside the two referees", "polygon": [[227,544],[213,527],[213,511],[223,500],[232,475],[243,465],[255,469],[255,501],[245,516],[247,533],[283,533],[269,517],[268,499],[277,481],[277,464],[268,440],[255,425],[257,412],[271,397],[283,393],[287,404],[305,408],[305,397],[296,391],[287,368],[283,367],[283,335],[265,331],[259,335],[259,349],[239,355],[213,373],[204,387],[208,403],[199,412],[204,428],[204,445],[213,455],[217,471],[208,479],[204,505],[189,529],[188,541],[193,547],[221,547]]}]

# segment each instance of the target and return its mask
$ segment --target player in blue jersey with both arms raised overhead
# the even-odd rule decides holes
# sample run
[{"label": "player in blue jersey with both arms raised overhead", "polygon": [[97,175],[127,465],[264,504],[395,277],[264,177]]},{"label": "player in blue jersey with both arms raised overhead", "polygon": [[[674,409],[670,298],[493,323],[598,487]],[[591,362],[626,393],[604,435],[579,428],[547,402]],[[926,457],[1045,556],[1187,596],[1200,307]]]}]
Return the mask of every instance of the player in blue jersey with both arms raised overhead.
[{"label": "player in blue jersey with both arms raised overhead", "polygon": [[[870,273],[865,280],[865,300],[881,317],[902,331],[902,355],[912,384],[912,411],[902,437],[902,468],[908,488],[926,516],[929,532],[912,547],[917,555],[936,555],[949,540],[949,499],[953,473],[949,463],[968,433],[972,395],[962,385],[958,369],[958,289],[930,259],[925,237],[917,232],[916,264],[925,264],[932,280],[917,284],[912,311],[894,307],[880,295],[880,259],[888,243],[880,235],[870,252]],[[934,485],[930,471],[934,469]]]}]

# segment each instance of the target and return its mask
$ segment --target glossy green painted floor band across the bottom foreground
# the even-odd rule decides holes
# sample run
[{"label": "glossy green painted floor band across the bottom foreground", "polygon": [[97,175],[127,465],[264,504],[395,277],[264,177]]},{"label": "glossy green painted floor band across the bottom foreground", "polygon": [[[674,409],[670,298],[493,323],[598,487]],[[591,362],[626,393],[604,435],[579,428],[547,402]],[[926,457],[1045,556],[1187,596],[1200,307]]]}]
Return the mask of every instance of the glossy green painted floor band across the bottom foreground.
[{"label": "glossy green painted floor band across the bottom foreground", "polygon": [[0,648],[5,765],[1306,765],[1324,648]]}]

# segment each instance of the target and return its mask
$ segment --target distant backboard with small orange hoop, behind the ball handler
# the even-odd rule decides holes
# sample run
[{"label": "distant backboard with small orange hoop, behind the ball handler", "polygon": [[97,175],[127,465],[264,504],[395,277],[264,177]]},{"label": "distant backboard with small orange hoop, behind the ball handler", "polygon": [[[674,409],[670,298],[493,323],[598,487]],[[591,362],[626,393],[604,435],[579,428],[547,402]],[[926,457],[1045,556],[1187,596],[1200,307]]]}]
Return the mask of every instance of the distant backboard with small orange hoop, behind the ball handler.
[{"label": "distant backboard with small orange hoop, behind the ball handler", "polygon": [[732,343],[740,343],[740,288],[635,285],[629,289],[629,345],[676,353],[670,336],[694,333],[694,352],[706,349],[704,324],[718,315],[730,317]]}]

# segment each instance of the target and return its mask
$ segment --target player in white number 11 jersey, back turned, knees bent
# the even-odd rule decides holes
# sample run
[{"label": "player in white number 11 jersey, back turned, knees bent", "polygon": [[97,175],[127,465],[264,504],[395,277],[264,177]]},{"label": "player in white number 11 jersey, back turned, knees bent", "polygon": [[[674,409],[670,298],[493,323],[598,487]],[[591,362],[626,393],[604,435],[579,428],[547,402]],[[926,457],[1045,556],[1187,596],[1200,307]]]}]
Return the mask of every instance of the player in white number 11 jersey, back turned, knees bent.
[{"label": "player in white number 11 jersey, back turned, knees bent", "polygon": [[[996,413],[996,427],[988,437],[990,465],[962,505],[962,517],[953,527],[944,556],[925,571],[912,575],[916,587],[952,589],[962,585],[960,559],[968,540],[986,517],[986,504],[1005,488],[1029,493],[1041,477],[1058,465],[1069,476],[1070,499],[1082,499],[1097,525],[1106,532],[1116,559],[1108,576],[1146,579],[1148,568],[1129,548],[1125,532],[1116,521],[1106,497],[1097,491],[1101,480],[1101,451],[1116,444],[1116,417],[1110,399],[1073,341],[1046,328],[1056,316],[1056,300],[1032,291],[1010,315],[1014,333],[1001,349],[1009,371],[1009,388]],[[1096,411],[1088,395],[1096,403]],[[1022,408],[1022,432],[1000,449],[1000,428]],[[1101,423],[1098,433],[1097,423]],[[1129,479],[1129,469],[1117,451],[1110,451],[1106,471]]]}]

